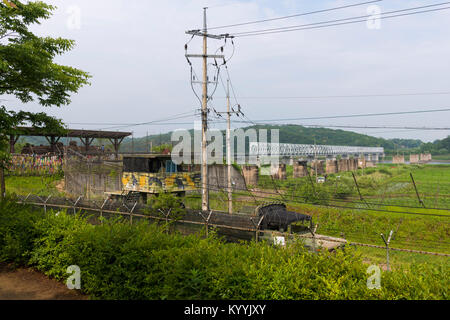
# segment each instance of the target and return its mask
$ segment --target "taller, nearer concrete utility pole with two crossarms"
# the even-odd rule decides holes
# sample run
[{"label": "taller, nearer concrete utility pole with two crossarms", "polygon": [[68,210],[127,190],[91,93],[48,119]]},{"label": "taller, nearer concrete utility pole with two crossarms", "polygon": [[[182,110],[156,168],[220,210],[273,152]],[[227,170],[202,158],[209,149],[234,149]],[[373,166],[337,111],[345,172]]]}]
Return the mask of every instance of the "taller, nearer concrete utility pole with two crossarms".
[{"label": "taller, nearer concrete utility pole with two crossarms", "polygon": [[209,211],[209,190],[208,190],[208,159],[206,154],[206,132],[208,130],[208,58],[224,59],[223,55],[208,55],[208,38],[224,39],[229,37],[228,34],[213,35],[208,34],[206,22],[206,9],[203,8],[203,30],[190,30],[186,34],[199,36],[203,38],[203,54],[186,54],[186,58],[202,58],[203,59],[203,82],[202,82],[202,211]]}]

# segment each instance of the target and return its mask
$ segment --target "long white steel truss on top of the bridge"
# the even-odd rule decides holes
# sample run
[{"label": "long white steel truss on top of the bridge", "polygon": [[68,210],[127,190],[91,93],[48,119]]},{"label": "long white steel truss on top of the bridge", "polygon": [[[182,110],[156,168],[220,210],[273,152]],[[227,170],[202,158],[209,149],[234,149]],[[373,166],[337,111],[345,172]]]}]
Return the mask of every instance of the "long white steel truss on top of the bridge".
[{"label": "long white steel truss on top of the bridge", "polygon": [[263,156],[263,155],[272,155],[272,156],[378,155],[378,156],[383,156],[384,148],[251,142],[250,143],[250,155],[252,155],[252,156]]}]

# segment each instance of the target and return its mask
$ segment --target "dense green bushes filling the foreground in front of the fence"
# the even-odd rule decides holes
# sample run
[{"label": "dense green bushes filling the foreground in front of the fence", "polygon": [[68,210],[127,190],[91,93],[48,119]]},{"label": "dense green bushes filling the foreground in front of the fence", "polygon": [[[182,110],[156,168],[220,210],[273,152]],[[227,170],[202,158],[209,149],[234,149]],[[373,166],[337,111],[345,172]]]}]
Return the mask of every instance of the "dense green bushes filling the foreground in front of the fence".
[{"label": "dense green bushes filling the foreground in front of the fence", "polygon": [[367,265],[351,248],[313,254],[301,242],[232,244],[214,233],[167,234],[148,222],[91,225],[64,212],[0,208],[1,261],[26,262],[61,280],[78,265],[92,298],[448,299],[448,266],[382,273],[382,289],[369,290]]}]

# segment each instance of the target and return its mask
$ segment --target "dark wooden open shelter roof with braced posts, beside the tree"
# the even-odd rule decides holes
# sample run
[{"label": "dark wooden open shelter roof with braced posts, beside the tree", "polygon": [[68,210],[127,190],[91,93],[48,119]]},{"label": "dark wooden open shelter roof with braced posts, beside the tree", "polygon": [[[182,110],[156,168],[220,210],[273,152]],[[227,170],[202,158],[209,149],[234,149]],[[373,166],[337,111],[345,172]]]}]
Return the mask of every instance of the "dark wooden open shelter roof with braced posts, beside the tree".
[{"label": "dark wooden open shelter roof with braced posts, beside the tree", "polygon": [[61,138],[79,138],[85,151],[89,150],[89,146],[94,139],[108,139],[114,147],[116,157],[119,153],[119,147],[123,139],[131,136],[131,132],[119,131],[101,131],[101,130],[80,130],[66,129],[62,134],[60,132],[51,132],[45,128],[19,127],[14,134],[9,135],[10,152],[15,153],[15,144],[21,136],[45,137],[50,145],[52,152],[56,152],[56,144]]}]

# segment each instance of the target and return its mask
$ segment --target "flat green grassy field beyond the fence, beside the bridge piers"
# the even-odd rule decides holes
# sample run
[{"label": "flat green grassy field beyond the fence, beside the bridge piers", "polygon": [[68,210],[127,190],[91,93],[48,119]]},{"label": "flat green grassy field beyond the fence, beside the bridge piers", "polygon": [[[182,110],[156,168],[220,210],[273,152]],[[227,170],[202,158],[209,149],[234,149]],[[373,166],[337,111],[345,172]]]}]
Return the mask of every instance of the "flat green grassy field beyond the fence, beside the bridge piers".
[{"label": "flat green grassy field beyond the fence, beside the bridge piers", "polygon": [[[287,174],[284,181],[260,176],[258,192],[234,192],[234,211],[251,214],[259,204],[283,201],[289,210],[313,216],[320,234],[382,246],[380,234],[393,230],[393,248],[450,254],[450,165],[382,164],[360,169],[355,176],[363,200],[350,172],[329,175],[326,183],[313,183],[314,186],[308,177],[292,178],[292,166],[287,167]],[[7,192],[62,196],[56,187],[61,179],[61,176],[7,177]],[[200,194],[187,195],[183,200],[188,208],[201,208]],[[227,211],[227,195],[223,190],[211,191],[210,207]],[[360,247],[360,250],[367,261],[385,261],[383,249]],[[448,261],[447,257],[407,252],[393,252],[392,256],[394,266],[415,261]]]}]

